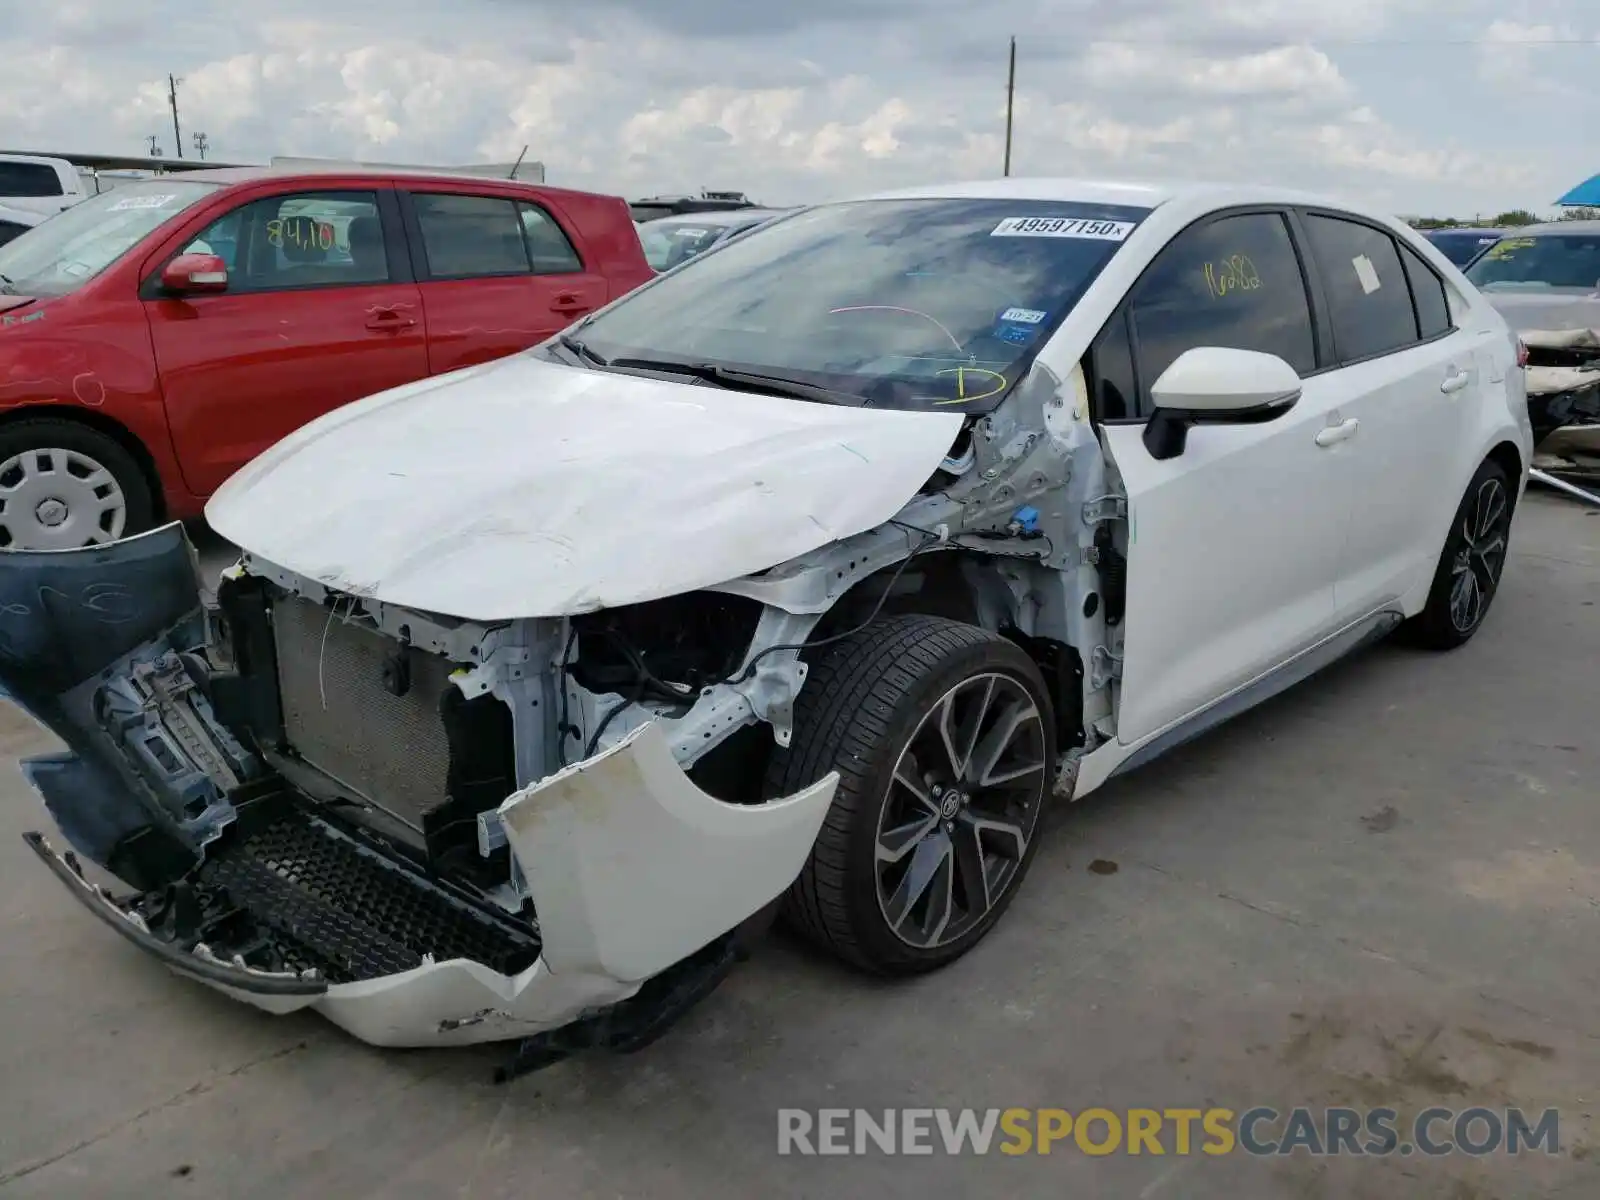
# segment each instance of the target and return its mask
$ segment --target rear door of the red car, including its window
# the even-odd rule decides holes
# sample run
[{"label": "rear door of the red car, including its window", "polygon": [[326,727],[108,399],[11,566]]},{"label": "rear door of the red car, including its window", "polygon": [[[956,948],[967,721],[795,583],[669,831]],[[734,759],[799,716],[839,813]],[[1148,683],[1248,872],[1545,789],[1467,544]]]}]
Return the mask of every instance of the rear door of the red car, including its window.
[{"label": "rear door of the red car, including its window", "polygon": [[525,195],[402,194],[438,374],[525,350],[606,302],[552,208]]}]

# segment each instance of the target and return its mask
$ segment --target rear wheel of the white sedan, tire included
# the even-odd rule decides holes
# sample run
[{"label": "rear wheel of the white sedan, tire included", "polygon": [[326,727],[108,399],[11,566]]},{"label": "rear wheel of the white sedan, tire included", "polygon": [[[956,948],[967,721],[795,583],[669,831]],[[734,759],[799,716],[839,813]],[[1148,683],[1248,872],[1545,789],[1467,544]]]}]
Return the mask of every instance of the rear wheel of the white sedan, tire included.
[{"label": "rear wheel of the white sedan, tire included", "polygon": [[1456,507],[1427,605],[1402,626],[1411,645],[1454,650],[1483,627],[1506,570],[1515,502],[1504,467],[1485,461]]}]

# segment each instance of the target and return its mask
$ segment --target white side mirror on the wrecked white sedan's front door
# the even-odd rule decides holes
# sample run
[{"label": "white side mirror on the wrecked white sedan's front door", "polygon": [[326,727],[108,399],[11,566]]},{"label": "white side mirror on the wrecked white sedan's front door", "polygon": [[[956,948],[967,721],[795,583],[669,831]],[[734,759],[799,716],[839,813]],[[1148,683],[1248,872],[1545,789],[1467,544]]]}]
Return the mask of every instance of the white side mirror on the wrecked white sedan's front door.
[{"label": "white side mirror on the wrecked white sedan's front door", "polygon": [[1299,374],[1275,354],[1221,346],[1184,350],[1150,387],[1155,413],[1144,426],[1144,446],[1150,458],[1178,458],[1190,426],[1275,421],[1299,397]]}]

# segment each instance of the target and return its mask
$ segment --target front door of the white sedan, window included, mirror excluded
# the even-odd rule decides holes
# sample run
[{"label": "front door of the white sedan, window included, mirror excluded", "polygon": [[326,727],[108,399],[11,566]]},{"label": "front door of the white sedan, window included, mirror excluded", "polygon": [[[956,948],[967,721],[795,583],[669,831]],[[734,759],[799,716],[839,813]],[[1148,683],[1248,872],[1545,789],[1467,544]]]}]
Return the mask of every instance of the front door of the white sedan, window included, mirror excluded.
[{"label": "front door of the white sedan, window included, mirror excluded", "polygon": [[[1350,472],[1325,435],[1342,397],[1314,374],[1317,333],[1282,213],[1184,230],[1101,334],[1123,338],[1134,411],[1101,416],[1128,498],[1117,738],[1134,744],[1331,632]],[[1150,386],[1202,346],[1282,357],[1309,376],[1301,400],[1264,424],[1197,426],[1181,454],[1155,459],[1142,440]]]}]

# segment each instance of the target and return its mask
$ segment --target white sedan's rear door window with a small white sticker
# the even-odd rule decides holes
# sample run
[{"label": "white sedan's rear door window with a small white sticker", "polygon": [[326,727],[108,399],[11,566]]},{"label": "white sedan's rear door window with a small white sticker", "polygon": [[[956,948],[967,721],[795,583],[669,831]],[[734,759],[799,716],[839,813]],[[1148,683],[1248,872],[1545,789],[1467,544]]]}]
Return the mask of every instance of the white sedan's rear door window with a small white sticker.
[{"label": "white sedan's rear door window with a small white sticker", "polygon": [[1371,226],[1317,214],[1306,218],[1306,232],[1328,291],[1339,360],[1413,346],[1418,322],[1395,240]]}]

